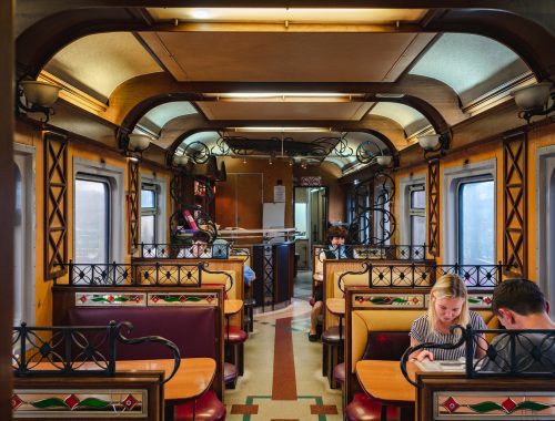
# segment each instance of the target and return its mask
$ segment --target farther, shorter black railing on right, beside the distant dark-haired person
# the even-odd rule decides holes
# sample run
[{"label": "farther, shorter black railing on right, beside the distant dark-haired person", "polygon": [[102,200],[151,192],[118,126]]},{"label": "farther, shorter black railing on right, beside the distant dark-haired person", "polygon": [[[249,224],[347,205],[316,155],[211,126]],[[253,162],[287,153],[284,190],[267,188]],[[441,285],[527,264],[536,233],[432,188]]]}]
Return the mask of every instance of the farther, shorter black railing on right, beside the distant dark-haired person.
[{"label": "farther, shorter black railing on right, beside the distant dark-haired person", "polygon": [[356,259],[380,259],[380,260],[425,260],[426,251],[430,251],[430,246],[423,245],[343,245],[339,247],[316,246],[314,253],[317,258],[323,261],[325,254],[322,251],[333,253],[340,258],[349,258],[353,256]]}]

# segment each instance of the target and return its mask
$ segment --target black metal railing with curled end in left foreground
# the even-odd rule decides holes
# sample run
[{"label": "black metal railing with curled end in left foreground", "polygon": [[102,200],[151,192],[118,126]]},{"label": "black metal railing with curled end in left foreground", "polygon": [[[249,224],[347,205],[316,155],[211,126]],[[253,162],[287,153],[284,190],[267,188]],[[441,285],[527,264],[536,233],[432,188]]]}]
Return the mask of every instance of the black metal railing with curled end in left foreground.
[{"label": "black metal railing with curled end in left foreground", "polygon": [[122,333],[123,329],[129,335],[133,325],[111,321],[108,326],[29,327],[22,322],[20,327],[13,327],[13,374],[114,376],[118,345],[160,343],[172,352],[173,370],[162,383],[169,381],[181,363],[178,346],[159,336],[128,338]]}]

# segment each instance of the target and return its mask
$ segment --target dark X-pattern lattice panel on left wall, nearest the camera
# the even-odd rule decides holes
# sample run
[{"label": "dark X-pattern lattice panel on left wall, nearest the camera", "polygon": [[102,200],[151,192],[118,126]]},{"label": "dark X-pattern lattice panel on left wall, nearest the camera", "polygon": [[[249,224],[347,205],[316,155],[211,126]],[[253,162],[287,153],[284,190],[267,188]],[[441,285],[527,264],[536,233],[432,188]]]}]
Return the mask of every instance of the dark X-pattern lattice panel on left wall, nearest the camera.
[{"label": "dark X-pattern lattice panel on left wall, nearest the camera", "polygon": [[44,279],[67,273],[56,264],[68,261],[68,141],[44,133]]}]

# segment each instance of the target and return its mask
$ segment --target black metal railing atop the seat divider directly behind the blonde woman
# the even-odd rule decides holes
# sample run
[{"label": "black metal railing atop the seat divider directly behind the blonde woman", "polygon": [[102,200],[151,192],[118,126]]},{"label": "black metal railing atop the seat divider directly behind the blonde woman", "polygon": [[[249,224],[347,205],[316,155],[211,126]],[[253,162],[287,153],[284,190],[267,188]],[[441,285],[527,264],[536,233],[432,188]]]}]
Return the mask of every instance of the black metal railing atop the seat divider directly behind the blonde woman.
[{"label": "black metal railing atop the seat divider directly behind the blonde woman", "polygon": [[339,288],[345,292],[345,278],[367,274],[369,288],[418,288],[432,287],[443,275],[461,276],[468,288],[493,289],[502,280],[502,271],[507,265],[437,265],[435,263],[373,264],[362,261],[362,270],[350,270],[340,275]]}]

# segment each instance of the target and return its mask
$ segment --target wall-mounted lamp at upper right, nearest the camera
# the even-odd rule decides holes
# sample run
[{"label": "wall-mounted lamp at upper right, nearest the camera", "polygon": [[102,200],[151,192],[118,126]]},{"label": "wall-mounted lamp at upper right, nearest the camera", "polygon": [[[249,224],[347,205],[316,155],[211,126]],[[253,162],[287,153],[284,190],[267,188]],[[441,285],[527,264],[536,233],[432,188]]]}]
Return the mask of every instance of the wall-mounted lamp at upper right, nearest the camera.
[{"label": "wall-mounted lamp at upper right, nearest the camera", "polygon": [[555,90],[552,82],[519,88],[512,91],[511,95],[521,109],[518,116],[526,120],[527,124],[534,115],[547,115],[555,111]]}]

